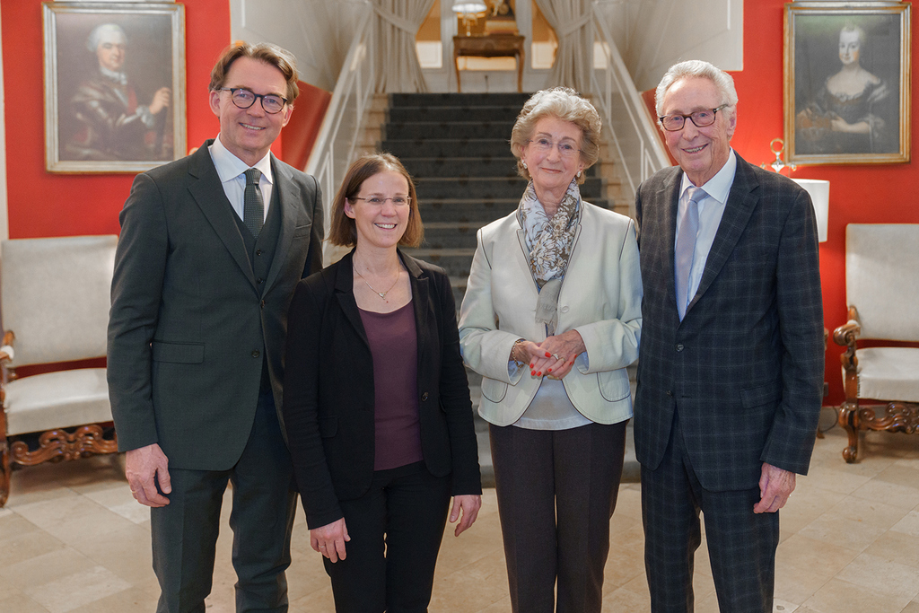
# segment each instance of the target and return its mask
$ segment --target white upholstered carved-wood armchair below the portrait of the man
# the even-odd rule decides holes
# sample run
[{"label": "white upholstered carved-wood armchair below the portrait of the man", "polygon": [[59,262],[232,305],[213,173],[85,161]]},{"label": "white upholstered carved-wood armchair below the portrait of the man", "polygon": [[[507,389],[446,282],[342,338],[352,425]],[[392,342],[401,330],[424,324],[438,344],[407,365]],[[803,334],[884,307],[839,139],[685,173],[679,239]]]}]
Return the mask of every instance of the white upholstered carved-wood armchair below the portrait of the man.
[{"label": "white upholstered carved-wood armchair below the portrait of the man", "polygon": [[0,506],[10,470],[113,453],[106,369],[17,378],[17,367],[104,358],[116,236],[0,244]]}]

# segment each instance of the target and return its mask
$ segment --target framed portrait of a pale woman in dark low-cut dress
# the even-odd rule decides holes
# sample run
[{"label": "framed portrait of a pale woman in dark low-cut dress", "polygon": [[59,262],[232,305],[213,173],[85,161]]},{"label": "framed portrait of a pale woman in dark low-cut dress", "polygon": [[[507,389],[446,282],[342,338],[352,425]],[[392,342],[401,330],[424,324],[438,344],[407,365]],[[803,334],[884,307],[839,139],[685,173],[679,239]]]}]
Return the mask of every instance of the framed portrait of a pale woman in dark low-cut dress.
[{"label": "framed portrait of a pale woman in dark low-cut dress", "polygon": [[909,3],[786,5],[789,164],[909,162],[910,74]]}]

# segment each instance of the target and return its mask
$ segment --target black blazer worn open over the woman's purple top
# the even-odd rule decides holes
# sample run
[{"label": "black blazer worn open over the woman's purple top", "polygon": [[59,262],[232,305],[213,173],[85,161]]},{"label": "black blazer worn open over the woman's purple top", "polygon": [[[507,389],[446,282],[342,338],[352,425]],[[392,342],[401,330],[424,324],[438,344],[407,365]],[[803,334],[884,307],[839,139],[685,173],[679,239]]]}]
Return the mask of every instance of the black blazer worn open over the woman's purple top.
[{"label": "black blazer worn open over the woman's purple top", "polygon": [[[302,280],[288,315],[283,413],[310,528],[343,517],[338,501],[365,494],[373,478],[373,358],[354,298],[353,253]],[[399,256],[412,284],[427,470],[452,473],[454,495],[481,494],[449,279],[438,267]]]}]

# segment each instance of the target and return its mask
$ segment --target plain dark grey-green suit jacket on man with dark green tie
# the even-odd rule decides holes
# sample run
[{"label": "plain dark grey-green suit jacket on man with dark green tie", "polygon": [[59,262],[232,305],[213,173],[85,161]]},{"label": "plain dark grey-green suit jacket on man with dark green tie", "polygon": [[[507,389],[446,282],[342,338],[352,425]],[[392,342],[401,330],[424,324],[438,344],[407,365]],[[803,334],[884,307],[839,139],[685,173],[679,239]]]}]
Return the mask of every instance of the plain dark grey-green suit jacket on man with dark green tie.
[{"label": "plain dark grey-green suit jacket on man with dark green tie", "polygon": [[170,468],[221,471],[249,437],[263,355],[279,416],[287,312],[300,279],[322,268],[323,209],[316,180],[272,156],[282,219],[267,278],[256,279],[211,142],[134,179],[120,214],[108,393],[121,450],[158,443]]}]

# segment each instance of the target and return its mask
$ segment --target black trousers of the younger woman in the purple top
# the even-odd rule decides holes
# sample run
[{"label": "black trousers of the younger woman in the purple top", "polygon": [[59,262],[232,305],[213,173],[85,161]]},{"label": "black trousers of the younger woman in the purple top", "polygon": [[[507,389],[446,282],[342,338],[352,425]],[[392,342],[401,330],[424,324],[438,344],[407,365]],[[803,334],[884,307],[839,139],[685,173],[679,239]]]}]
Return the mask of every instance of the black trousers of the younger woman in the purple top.
[{"label": "black trousers of the younger woman in the purple top", "polygon": [[450,477],[424,462],[375,471],[367,494],[339,502],[351,540],[325,562],[337,613],[425,613],[447,523]]}]

